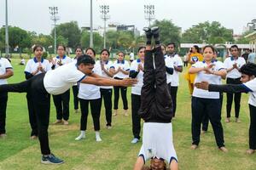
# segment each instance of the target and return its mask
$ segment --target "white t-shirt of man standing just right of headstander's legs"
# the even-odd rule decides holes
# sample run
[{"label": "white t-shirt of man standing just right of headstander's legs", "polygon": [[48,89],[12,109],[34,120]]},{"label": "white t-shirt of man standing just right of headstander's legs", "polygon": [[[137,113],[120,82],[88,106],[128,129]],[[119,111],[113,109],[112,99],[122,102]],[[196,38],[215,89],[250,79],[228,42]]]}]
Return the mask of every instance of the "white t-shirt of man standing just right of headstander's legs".
[{"label": "white t-shirt of man standing just right of headstander's legs", "polygon": [[[182,67],[183,66],[183,60],[178,56],[178,54],[175,54],[173,57],[170,56],[170,58],[172,59],[172,63],[174,66],[177,67]],[[179,72],[173,70],[173,74],[172,74],[172,82],[171,82],[171,86],[172,87],[178,87],[179,85]]]}]

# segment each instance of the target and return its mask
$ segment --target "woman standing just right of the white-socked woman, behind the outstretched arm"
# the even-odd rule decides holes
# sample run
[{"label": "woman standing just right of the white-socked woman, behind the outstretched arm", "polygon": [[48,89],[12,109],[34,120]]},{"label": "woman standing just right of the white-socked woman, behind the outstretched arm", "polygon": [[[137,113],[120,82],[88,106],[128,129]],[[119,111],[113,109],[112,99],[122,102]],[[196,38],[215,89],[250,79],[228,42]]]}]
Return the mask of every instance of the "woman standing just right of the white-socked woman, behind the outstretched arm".
[{"label": "woman standing just right of the white-socked woman, behind the outstretched arm", "polygon": [[[112,78],[113,77],[113,62],[109,60],[109,51],[108,49],[102,49],[101,51],[101,60],[96,61],[101,65],[102,73],[100,74],[102,77]],[[112,93],[113,93],[113,86],[101,86],[101,106],[102,109],[102,100],[104,99],[104,106],[105,106],[105,116],[107,122],[107,129],[112,128]],[[101,110],[100,110],[101,112]]]}]

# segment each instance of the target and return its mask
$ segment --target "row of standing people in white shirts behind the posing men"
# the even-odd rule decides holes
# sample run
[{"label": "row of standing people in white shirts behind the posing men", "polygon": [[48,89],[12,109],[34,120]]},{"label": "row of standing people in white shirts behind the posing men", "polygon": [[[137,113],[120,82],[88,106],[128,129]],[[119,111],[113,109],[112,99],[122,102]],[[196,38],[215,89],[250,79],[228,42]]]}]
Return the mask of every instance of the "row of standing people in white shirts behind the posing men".
[{"label": "row of standing people in white shirts behind the posing men", "polygon": [[[173,117],[175,117],[176,112],[176,103],[177,103],[177,88],[179,86],[179,72],[183,71],[183,61],[176,53],[175,43],[169,43],[166,46],[166,83],[168,84],[169,93],[172,96],[172,105],[173,105]],[[50,70],[55,70],[62,65],[67,65],[68,63],[76,63],[77,59],[83,54],[82,48],[76,48],[76,57],[74,59],[69,58],[65,55],[65,46],[58,46],[58,56],[52,59],[51,62],[47,59],[42,58],[43,48],[37,46],[34,48],[35,57],[30,59],[26,63],[25,75],[26,79],[30,79],[35,75],[45,73]],[[143,87],[143,65],[145,57],[145,47],[138,48],[138,59],[135,59],[131,62],[131,65],[128,61],[125,60],[125,54],[119,52],[117,60],[112,62],[109,59],[108,49],[103,49],[100,53],[100,59],[96,61],[92,71],[96,73],[95,77],[105,77],[113,78],[117,80],[124,80],[127,77],[136,78],[137,84],[131,88],[131,115],[132,115],[132,132],[133,139],[131,140],[132,144],[136,144],[140,139],[141,132],[141,117],[138,116],[137,112],[140,108],[141,103],[141,90]],[[229,58],[225,59],[224,64],[214,58],[216,50],[212,46],[206,46],[203,48],[203,61],[198,61],[189,69],[189,73],[196,74],[195,78],[195,89],[192,94],[191,108],[192,108],[192,146],[191,148],[195,150],[200,143],[201,135],[201,122],[207,116],[212,123],[212,128],[214,131],[216,143],[220,150],[224,152],[227,149],[224,146],[224,132],[223,127],[220,122],[221,120],[221,103],[220,94],[216,92],[209,92],[208,84],[203,82],[209,82],[210,84],[220,85],[222,84],[222,79],[227,77],[228,84],[237,84],[241,85],[241,75],[240,69],[243,65],[246,64],[245,60],[239,57],[236,52],[238,52],[237,46],[232,46],[230,48],[231,54]],[[234,52],[234,53],[232,53]],[[93,48],[87,48],[85,54],[90,55],[91,58],[96,59],[96,52]],[[2,61],[3,60],[3,61]],[[4,66],[4,77],[0,79],[6,80],[6,78],[12,76],[12,67],[6,61],[6,59],[1,59],[1,66]],[[0,70],[1,71],[1,70]],[[2,76],[0,75],[0,76]],[[252,76],[252,75],[251,75]],[[255,76],[255,75],[254,75]],[[82,77],[83,79],[84,77]],[[54,77],[52,77],[54,79]],[[251,78],[252,79],[252,78]],[[253,79],[254,80],[254,79]],[[104,99],[105,106],[105,115],[106,115],[106,127],[108,129],[112,128],[112,116],[118,115],[118,101],[119,101],[119,90],[121,91],[121,97],[123,99],[123,109],[125,116],[128,115],[128,101],[127,101],[127,87],[123,86],[98,86],[93,84],[78,83],[73,86],[74,94],[74,109],[75,112],[78,111],[78,101],[80,103],[81,110],[81,120],[80,120],[80,134],[76,140],[85,138],[85,131],[87,125],[87,116],[88,108],[90,103],[91,115],[93,117],[94,130],[96,132],[96,141],[102,141],[100,137],[100,115],[102,108],[102,100]],[[6,84],[6,82],[1,82],[1,84]],[[46,88],[46,82],[44,82],[44,87]],[[251,84],[246,90],[240,91],[240,93],[235,94],[235,107],[236,107],[236,122],[239,122],[239,109],[240,109],[240,100],[241,92],[253,92],[255,91],[255,84],[251,88]],[[114,89],[114,106],[112,106],[112,94]],[[244,88],[243,88],[244,89]],[[217,90],[217,89],[215,89]],[[38,137],[38,123],[37,116],[34,111],[34,100],[32,98],[32,91],[26,91],[27,106],[29,112],[29,121],[32,127],[31,138],[36,139]],[[49,91],[48,91],[49,92]],[[223,92],[225,92],[223,90]],[[254,94],[251,96],[254,96]],[[69,99],[70,99],[70,90],[61,93],[51,93],[53,94],[54,104],[56,108],[56,122],[55,124],[68,124],[69,119]],[[4,98],[6,95],[3,94]],[[79,99],[77,99],[79,98]],[[255,98],[255,96],[254,96]],[[1,97],[2,99],[2,97]],[[233,94],[229,91],[227,94],[227,113],[231,110],[233,100]],[[7,102],[7,99],[4,99]],[[3,102],[4,103],[4,102]],[[250,109],[255,111],[256,103],[253,97],[250,97]],[[112,110],[113,107],[113,110]],[[4,107],[2,107],[4,108]],[[6,106],[5,106],[6,108]],[[6,109],[5,109],[6,110]],[[112,113],[113,111],[113,113]],[[2,116],[3,117],[3,116]],[[5,125],[5,116],[0,120],[4,123],[0,123],[3,126]],[[230,115],[227,115],[226,122],[230,122]],[[253,123],[253,126],[254,123]],[[254,129],[254,128],[253,128]],[[253,135],[253,131],[250,130],[250,133]],[[5,135],[5,128],[0,128],[0,135]],[[256,141],[251,137],[250,140],[250,149],[248,153],[253,153],[256,150]],[[41,146],[42,149],[42,146]]]}]

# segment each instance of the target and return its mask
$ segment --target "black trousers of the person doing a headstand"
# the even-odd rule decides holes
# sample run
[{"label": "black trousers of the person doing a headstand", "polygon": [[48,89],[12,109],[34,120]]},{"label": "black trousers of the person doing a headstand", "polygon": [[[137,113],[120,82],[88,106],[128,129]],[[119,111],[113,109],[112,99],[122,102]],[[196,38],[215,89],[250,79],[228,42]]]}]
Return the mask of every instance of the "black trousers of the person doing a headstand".
[{"label": "black trousers of the person doing a headstand", "polygon": [[154,51],[146,50],[141,107],[138,115],[145,122],[172,121],[172,98],[166,83],[166,65],[160,47]]}]

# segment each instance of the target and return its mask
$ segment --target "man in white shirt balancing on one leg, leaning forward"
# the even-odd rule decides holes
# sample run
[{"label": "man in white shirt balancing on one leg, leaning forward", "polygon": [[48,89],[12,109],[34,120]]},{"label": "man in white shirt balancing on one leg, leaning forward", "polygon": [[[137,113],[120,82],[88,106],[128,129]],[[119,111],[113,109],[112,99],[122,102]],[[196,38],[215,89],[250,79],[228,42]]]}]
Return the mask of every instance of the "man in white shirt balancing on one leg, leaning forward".
[{"label": "man in white shirt balancing on one leg, leaning forward", "polygon": [[79,57],[77,63],[72,62],[63,65],[53,71],[39,74],[24,82],[0,85],[0,93],[32,92],[33,105],[36,109],[38,123],[38,139],[43,155],[41,158],[42,163],[61,164],[64,162],[49,150],[50,94],[63,94],[77,82],[95,84],[97,86],[131,86],[137,83],[135,79],[113,80],[98,77],[92,72],[94,65],[94,59],[89,55],[82,55]]}]

